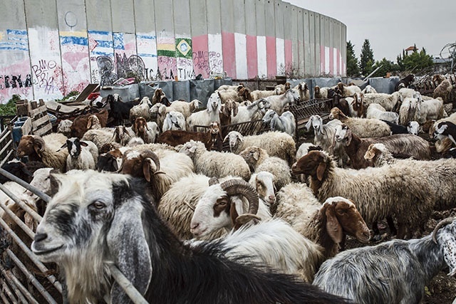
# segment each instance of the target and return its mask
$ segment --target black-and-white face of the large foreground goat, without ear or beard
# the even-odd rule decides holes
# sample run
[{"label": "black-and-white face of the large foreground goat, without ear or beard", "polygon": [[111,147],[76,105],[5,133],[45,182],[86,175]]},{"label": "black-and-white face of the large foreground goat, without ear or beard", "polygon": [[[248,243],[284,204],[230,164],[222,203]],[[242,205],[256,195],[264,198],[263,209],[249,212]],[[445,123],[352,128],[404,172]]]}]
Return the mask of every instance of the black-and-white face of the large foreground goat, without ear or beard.
[{"label": "black-and-white face of the large foreground goat, without ear or beard", "polygon": [[[56,176],[59,191],[49,202],[31,245],[41,261],[71,261],[103,242],[101,236],[114,214],[113,184],[93,178],[98,172],[87,173]],[[120,182],[125,177],[116,179]]]}]

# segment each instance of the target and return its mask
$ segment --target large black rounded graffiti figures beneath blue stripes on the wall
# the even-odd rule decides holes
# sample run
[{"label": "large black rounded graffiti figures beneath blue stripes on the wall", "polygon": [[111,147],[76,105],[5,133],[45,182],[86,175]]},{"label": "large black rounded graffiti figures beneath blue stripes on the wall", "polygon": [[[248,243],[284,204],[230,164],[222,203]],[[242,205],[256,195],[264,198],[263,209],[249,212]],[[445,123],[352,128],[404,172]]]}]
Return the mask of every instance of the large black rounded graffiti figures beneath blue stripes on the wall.
[{"label": "large black rounded graffiti figures beneath blue stripes on the wall", "polygon": [[117,74],[114,73],[113,59],[108,56],[97,57],[98,70],[100,72],[100,85],[113,85],[115,80],[119,78],[137,77],[138,80],[147,79],[147,73],[152,73],[145,68],[144,61],[140,56],[132,55],[129,58],[123,54],[115,54],[115,68]]}]

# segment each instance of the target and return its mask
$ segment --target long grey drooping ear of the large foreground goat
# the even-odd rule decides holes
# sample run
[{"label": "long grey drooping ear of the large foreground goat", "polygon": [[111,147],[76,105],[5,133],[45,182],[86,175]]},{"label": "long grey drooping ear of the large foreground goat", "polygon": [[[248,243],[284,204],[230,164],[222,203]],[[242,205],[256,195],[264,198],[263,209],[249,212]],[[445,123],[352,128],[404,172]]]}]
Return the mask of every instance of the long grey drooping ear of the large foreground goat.
[{"label": "long grey drooping ear of the large foreground goat", "polygon": [[[149,246],[142,225],[142,206],[128,201],[115,210],[112,225],[106,236],[110,258],[136,289],[145,295],[152,278]],[[118,283],[110,290],[113,303],[128,303],[130,298]]]}]

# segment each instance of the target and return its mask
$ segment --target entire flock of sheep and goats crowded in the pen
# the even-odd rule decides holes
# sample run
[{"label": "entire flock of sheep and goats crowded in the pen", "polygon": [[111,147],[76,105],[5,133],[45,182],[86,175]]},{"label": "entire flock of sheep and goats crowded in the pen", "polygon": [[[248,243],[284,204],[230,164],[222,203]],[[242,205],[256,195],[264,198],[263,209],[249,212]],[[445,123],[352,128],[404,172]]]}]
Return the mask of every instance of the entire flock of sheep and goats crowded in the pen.
[{"label": "entire flock of sheep and goats crowded in the pen", "polygon": [[[150,303],[419,303],[439,271],[456,273],[455,218],[423,236],[433,211],[456,207],[452,85],[435,81],[432,98],[408,83],[392,94],[316,87],[331,120],[309,117],[314,142],[299,147],[286,106],[310,99],[306,83],[222,86],[204,110],[160,89],[140,103],[110,95],[58,132],[21,138],[28,162],[4,169],[52,199],[5,179],[43,219],[4,194],[12,212],[0,215],[35,233],[26,244],[61,267],[72,303],[128,302],[109,263]],[[270,132],[222,131],[259,119]],[[222,141],[229,152],[212,150]],[[396,239],[368,246],[383,219]],[[346,250],[347,236],[365,245]]]}]

